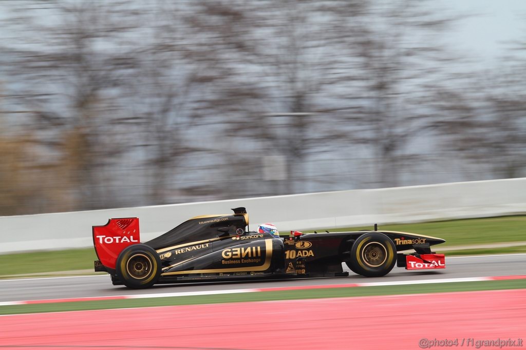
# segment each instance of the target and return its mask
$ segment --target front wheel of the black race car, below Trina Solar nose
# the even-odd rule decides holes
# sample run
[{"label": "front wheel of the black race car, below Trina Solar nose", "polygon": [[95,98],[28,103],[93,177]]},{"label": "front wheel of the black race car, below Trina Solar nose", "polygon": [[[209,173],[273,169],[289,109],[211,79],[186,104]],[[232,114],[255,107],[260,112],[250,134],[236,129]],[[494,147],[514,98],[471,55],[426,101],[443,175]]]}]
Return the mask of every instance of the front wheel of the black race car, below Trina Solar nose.
[{"label": "front wheel of the black race car, below Trina Solar nose", "polygon": [[383,233],[362,234],[352,244],[351,257],[345,263],[352,272],[362,276],[384,276],[395,267],[395,243]]}]

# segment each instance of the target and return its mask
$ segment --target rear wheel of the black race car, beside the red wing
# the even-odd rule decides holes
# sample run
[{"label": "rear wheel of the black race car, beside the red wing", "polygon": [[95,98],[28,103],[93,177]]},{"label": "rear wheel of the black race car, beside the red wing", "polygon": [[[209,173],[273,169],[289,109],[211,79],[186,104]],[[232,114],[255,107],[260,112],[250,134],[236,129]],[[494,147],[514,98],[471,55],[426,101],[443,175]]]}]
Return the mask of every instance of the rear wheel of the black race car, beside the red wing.
[{"label": "rear wheel of the black race car, beside the red wing", "polygon": [[151,287],[161,274],[159,254],[146,244],[130,245],[117,258],[116,274],[128,288]]}]

